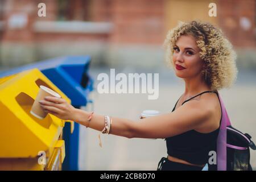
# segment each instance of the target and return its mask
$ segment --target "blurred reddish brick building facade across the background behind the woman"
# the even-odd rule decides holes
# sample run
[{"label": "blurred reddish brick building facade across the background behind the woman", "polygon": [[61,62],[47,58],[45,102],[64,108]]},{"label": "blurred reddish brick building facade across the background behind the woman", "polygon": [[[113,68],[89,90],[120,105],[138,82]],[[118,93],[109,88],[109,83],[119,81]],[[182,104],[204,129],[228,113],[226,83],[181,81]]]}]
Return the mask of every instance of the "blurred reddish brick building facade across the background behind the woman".
[{"label": "blurred reddish brick building facade across the background behind the woman", "polygon": [[[46,17],[38,4],[46,4]],[[209,17],[209,3],[217,17]],[[65,54],[89,54],[97,64],[154,67],[177,20],[221,27],[237,48],[255,48],[256,0],[0,0],[0,61],[19,65]]]}]

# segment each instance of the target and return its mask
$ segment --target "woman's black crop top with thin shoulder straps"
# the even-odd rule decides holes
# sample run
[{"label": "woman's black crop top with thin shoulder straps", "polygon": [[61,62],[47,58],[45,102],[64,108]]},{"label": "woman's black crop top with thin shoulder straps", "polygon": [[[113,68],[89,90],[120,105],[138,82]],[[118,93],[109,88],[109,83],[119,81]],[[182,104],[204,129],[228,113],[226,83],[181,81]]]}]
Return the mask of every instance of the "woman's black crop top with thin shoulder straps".
[{"label": "woman's black crop top with thin shoulder straps", "polygon": [[[205,91],[197,94],[192,98],[209,92],[213,91]],[[216,93],[218,96],[217,92],[214,93]],[[184,101],[181,105],[191,100],[192,98]],[[172,111],[175,110],[177,102]],[[216,151],[216,143],[219,129],[220,127],[217,130],[206,134],[199,133],[195,130],[190,130],[185,133],[175,135],[173,137],[168,137],[166,138],[167,154],[175,158],[185,160],[192,164],[205,164],[208,162],[208,159],[210,157],[209,151]]]}]

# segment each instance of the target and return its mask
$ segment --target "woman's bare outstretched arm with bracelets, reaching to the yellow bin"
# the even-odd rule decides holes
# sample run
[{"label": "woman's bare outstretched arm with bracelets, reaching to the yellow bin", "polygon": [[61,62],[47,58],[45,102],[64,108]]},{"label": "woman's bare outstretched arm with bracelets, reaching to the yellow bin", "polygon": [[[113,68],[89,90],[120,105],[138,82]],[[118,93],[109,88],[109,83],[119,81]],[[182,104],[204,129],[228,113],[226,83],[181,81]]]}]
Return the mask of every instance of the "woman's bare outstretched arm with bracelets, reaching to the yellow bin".
[{"label": "woman's bare outstretched arm with bracelets, reaching to the yellow bin", "polygon": [[[46,97],[40,104],[48,113],[61,119],[72,120],[98,131],[104,129],[104,115],[94,113],[91,121],[88,122],[89,112],[75,109],[61,98]],[[141,121],[112,117],[110,134],[127,138],[167,138],[196,129],[212,114],[213,111],[205,107],[203,102],[191,100],[172,113],[141,119]]]}]

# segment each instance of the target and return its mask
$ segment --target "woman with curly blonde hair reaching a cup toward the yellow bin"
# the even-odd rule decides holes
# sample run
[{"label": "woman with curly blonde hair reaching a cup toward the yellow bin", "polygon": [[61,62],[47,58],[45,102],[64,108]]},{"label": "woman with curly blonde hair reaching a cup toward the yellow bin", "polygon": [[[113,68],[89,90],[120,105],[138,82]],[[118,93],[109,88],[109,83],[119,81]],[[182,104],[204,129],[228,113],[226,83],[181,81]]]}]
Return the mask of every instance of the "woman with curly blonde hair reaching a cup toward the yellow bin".
[{"label": "woman with curly blonde hair reaching a cup toward the yellow bin", "polygon": [[75,109],[61,98],[46,97],[40,104],[48,113],[102,133],[166,138],[168,156],[160,160],[159,170],[201,170],[215,150],[220,127],[217,90],[229,87],[236,78],[235,53],[220,30],[196,21],[169,31],[164,45],[176,76],[185,82],[171,113],[133,122]]}]

